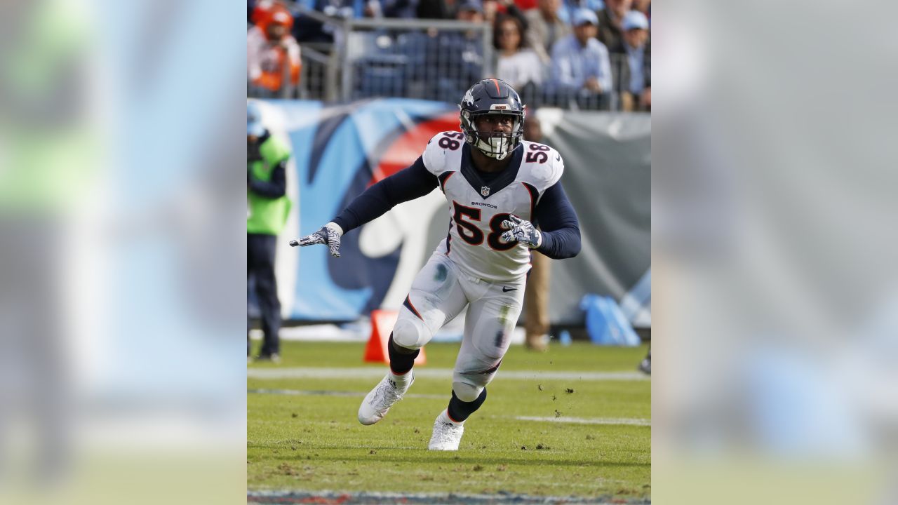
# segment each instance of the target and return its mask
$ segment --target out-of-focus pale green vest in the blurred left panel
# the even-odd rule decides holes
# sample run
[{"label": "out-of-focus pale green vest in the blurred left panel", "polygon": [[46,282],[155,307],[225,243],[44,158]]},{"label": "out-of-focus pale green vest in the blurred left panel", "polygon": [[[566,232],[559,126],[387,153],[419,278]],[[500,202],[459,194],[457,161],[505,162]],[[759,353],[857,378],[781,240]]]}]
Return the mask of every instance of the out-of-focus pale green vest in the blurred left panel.
[{"label": "out-of-focus pale green vest in the blurred left panel", "polygon": [[84,67],[93,39],[94,23],[83,10],[69,0],[35,2],[33,12],[23,10],[16,23],[22,30],[15,39],[19,50],[4,48],[0,55],[4,100],[23,105],[22,111],[0,113],[0,216],[55,216],[83,205],[102,172],[103,146],[89,113],[75,109],[52,125],[22,118],[31,116],[29,104],[52,100],[60,89],[70,93],[66,69]]}]

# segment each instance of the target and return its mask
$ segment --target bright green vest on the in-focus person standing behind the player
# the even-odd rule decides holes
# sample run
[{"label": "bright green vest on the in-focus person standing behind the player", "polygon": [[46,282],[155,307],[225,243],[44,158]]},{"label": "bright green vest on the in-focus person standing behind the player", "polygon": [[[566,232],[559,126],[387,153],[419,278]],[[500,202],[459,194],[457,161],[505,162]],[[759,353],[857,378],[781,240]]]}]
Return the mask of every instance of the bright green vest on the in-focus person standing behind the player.
[{"label": "bright green vest on the in-focus person standing behind the player", "polygon": [[[252,178],[269,182],[274,167],[290,157],[290,150],[277,138],[269,137],[259,146],[259,152],[262,159],[247,162],[246,168],[250,171]],[[286,194],[277,199],[269,199],[247,190],[246,200],[246,233],[263,235],[281,233],[286,224],[286,218],[290,214],[291,202]]]}]

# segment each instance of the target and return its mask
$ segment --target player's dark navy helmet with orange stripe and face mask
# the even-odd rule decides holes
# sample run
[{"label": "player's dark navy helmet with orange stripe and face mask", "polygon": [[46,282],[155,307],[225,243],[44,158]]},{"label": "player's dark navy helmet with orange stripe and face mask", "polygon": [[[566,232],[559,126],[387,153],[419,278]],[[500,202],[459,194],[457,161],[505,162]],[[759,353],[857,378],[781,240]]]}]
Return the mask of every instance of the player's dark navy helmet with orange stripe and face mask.
[{"label": "player's dark navy helmet with orange stripe and face mask", "polygon": [[[505,159],[515,150],[524,137],[524,105],[521,98],[508,83],[501,79],[483,79],[471,86],[459,104],[462,110],[462,132],[471,146],[477,147],[484,155],[497,160]],[[476,122],[487,114],[507,114],[513,116],[510,132],[481,133]]]}]

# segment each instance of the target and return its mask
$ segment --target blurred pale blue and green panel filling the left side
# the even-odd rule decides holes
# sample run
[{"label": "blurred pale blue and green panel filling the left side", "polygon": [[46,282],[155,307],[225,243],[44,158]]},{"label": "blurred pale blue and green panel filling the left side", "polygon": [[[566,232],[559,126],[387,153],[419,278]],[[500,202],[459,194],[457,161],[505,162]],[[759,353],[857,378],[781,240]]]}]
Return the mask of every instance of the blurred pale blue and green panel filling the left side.
[{"label": "blurred pale blue and green panel filling the left side", "polygon": [[0,3],[0,502],[242,499],[243,17]]}]

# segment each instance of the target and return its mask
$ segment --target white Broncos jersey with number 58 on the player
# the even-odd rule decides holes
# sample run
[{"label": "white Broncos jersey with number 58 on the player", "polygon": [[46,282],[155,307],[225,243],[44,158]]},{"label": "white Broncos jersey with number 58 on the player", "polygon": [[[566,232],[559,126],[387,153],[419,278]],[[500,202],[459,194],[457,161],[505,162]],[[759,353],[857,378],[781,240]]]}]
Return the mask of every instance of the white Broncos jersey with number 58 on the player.
[{"label": "white Broncos jersey with number 58 on the player", "polygon": [[564,162],[558,151],[522,141],[497,178],[484,182],[471,165],[471,149],[459,131],[431,138],[424,151],[427,171],[436,175],[449,204],[449,233],[437,246],[460,270],[478,279],[519,279],[530,270],[530,249],[500,238],[509,214],[533,221],[545,190],[559,182]]}]

